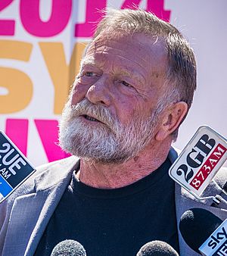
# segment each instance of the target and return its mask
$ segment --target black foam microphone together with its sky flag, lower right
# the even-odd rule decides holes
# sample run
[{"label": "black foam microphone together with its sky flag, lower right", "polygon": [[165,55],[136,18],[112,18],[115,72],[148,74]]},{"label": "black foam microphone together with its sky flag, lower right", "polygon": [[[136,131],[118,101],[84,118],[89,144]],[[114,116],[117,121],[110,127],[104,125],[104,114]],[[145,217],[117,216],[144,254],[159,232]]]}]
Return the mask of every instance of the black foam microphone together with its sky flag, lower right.
[{"label": "black foam microphone together with its sky flag, lower right", "polygon": [[226,255],[227,221],[222,222],[210,211],[202,208],[185,211],[182,214],[179,229],[185,242],[197,253]]}]

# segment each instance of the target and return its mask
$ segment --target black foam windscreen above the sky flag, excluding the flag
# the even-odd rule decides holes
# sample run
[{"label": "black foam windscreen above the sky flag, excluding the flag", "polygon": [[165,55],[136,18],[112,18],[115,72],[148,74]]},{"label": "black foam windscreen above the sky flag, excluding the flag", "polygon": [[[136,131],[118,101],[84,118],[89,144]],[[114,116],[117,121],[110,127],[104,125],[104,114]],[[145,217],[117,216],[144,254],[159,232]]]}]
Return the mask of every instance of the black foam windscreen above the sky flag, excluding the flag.
[{"label": "black foam windscreen above the sky flag, excluding the flag", "polygon": [[202,208],[193,208],[182,214],[179,229],[185,242],[197,253],[222,220]]}]

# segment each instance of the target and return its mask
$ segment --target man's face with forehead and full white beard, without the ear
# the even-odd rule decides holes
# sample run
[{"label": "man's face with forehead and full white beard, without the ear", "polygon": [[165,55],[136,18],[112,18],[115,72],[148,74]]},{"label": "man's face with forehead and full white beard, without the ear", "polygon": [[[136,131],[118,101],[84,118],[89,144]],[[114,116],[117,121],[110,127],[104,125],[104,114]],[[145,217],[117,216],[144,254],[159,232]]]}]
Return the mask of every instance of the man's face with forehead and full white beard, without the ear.
[{"label": "man's face with forehead and full white beard, without the ear", "polygon": [[60,145],[104,163],[134,157],[154,139],[165,92],[162,42],[100,35],[89,46],[60,126]]}]

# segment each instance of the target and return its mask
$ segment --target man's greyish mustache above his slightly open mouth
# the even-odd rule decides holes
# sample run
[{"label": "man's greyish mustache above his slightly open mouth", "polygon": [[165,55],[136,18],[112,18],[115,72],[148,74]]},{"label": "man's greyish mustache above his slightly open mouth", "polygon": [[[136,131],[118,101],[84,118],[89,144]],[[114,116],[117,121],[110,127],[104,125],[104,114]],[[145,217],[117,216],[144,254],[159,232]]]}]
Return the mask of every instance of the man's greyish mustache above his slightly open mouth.
[{"label": "man's greyish mustache above his slightly open mouth", "polygon": [[112,129],[114,124],[119,123],[117,117],[113,117],[113,114],[110,111],[101,105],[94,105],[88,99],[84,98],[82,101],[76,105],[70,107],[70,116],[79,117],[82,115],[87,115],[93,117],[100,121],[101,123],[110,126]]}]

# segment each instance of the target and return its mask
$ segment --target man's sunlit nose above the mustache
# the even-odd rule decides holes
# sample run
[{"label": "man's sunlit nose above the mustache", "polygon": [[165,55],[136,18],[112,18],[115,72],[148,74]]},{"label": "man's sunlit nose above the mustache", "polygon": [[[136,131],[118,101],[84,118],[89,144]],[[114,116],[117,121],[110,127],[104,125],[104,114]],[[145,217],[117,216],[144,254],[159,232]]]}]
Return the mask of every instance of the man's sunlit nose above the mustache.
[{"label": "man's sunlit nose above the mustache", "polygon": [[110,105],[110,80],[107,76],[101,76],[89,87],[86,98],[94,104]]}]

